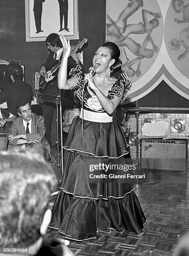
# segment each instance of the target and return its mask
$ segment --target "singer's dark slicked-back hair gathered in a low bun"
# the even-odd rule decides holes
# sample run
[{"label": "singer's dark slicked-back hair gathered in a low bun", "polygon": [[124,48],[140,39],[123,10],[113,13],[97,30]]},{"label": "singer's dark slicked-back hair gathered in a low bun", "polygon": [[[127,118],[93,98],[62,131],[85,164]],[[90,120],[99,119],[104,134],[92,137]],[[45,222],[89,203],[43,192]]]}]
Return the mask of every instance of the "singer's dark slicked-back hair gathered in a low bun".
[{"label": "singer's dark slicked-back hair gathered in a low bun", "polygon": [[114,74],[115,72],[119,71],[122,67],[122,61],[119,59],[119,47],[112,42],[104,43],[102,44],[102,46],[108,48],[111,52],[111,59],[115,59],[114,64],[110,67],[111,74]]}]

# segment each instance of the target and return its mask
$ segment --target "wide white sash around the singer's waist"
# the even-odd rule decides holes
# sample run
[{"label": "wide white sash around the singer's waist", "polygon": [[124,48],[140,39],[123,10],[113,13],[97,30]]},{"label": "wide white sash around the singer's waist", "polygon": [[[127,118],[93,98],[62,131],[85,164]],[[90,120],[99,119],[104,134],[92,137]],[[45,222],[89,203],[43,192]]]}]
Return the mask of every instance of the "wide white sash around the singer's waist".
[{"label": "wide white sash around the singer's waist", "polygon": [[82,118],[83,114],[83,119],[91,122],[97,122],[97,123],[110,123],[112,122],[112,116],[109,116],[107,113],[99,113],[99,112],[92,112],[88,110],[83,110],[81,108],[81,113],[80,113],[80,118]]}]

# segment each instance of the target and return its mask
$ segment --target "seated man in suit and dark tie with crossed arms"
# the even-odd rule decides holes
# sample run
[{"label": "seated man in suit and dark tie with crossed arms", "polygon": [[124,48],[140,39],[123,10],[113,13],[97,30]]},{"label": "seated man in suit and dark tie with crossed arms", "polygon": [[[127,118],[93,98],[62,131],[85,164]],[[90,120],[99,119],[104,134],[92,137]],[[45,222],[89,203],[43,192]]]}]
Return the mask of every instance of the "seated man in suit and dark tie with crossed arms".
[{"label": "seated man in suit and dark tie with crossed arms", "polygon": [[32,113],[31,105],[27,101],[17,102],[17,113],[20,117],[13,120],[9,129],[8,149],[18,146],[32,148],[45,160],[50,157],[50,146],[45,137],[44,118]]}]

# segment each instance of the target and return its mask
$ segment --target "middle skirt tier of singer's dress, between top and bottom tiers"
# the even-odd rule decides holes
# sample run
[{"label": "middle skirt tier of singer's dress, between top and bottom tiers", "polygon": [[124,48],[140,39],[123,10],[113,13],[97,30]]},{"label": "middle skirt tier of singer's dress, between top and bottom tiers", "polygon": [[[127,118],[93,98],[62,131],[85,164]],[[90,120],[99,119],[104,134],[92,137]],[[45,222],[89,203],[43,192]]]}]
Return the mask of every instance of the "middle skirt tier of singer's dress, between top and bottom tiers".
[{"label": "middle skirt tier of singer's dress, between top and bottom tiers", "polygon": [[[102,196],[104,200],[108,200],[110,197],[117,199],[123,198],[134,189],[132,180],[127,178],[127,170],[117,170],[114,168],[114,166],[124,166],[126,162],[127,164],[131,164],[129,162],[130,159],[125,161],[124,157],[120,157],[119,159],[97,158],[89,154],[86,154],[84,158],[80,152],[70,151],[67,152],[66,159],[64,176],[60,185],[60,189],[63,189],[65,193],[95,200],[98,200]],[[95,170],[93,168],[94,166],[102,166],[103,164],[104,166],[108,166],[109,164],[110,168],[108,170],[105,168],[104,170]],[[93,178],[93,175],[100,174],[106,174],[107,178]],[[109,174],[123,174],[125,178],[122,180],[112,179],[109,178]],[[120,183],[122,183],[121,187]]]}]

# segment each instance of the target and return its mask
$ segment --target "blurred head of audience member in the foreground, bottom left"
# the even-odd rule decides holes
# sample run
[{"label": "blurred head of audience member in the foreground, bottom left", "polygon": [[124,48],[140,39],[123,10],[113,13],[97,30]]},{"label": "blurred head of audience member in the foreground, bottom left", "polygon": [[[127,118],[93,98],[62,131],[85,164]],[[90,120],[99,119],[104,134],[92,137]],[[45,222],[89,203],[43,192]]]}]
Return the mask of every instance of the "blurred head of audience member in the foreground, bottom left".
[{"label": "blurred head of audience member in the foreground, bottom left", "polygon": [[47,203],[55,180],[40,155],[0,152],[0,247],[29,247],[35,255],[51,220]]}]

